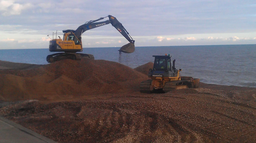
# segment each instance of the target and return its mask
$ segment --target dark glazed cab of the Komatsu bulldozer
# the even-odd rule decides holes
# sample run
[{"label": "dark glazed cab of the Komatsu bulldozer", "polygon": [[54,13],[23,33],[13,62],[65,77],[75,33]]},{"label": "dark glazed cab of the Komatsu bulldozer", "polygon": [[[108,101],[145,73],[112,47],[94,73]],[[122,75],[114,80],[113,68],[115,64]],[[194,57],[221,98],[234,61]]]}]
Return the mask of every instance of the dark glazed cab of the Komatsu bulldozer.
[{"label": "dark glazed cab of the Komatsu bulldozer", "polygon": [[154,70],[170,70],[172,71],[172,65],[170,62],[170,55],[153,55],[155,57]]}]

